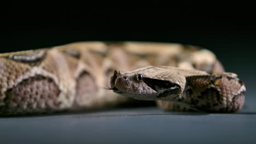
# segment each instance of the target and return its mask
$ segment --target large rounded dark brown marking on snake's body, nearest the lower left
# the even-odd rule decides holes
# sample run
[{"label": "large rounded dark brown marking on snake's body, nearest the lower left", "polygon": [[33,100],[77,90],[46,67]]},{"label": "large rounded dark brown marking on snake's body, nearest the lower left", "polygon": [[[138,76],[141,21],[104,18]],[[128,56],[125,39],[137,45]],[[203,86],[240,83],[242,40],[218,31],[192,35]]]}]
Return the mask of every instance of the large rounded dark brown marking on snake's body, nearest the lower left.
[{"label": "large rounded dark brown marking on snake's body, nearest the lower left", "polygon": [[0,113],[50,112],[60,105],[59,93],[52,79],[40,75],[31,77],[5,92],[5,105],[0,107]]}]

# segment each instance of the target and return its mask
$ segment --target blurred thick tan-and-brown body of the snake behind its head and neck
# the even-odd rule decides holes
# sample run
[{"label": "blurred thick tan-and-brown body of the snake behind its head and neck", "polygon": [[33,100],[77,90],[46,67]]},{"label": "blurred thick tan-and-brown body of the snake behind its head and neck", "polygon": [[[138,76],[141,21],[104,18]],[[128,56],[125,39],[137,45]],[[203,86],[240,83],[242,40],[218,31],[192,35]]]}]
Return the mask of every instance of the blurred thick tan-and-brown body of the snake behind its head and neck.
[{"label": "blurred thick tan-and-brown body of the snake behind its head and neck", "polygon": [[104,109],[133,103],[136,100],[106,89],[110,76],[115,69],[131,71],[147,65],[224,71],[211,51],[170,43],[88,41],[2,53],[0,115]]}]

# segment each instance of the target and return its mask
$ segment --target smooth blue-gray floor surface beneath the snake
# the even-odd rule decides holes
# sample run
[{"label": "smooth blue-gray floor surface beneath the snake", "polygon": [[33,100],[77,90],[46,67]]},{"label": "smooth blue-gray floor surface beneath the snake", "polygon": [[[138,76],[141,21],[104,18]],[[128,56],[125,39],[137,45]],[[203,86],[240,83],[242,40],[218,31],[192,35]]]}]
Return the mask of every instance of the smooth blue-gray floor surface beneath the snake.
[{"label": "smooth blue-gray floor surface beneath the snake", "polygon": [[0,143],[256,143],[255,101],[247,97],[244,109],[233,114],[142,107],[2,117]]}]

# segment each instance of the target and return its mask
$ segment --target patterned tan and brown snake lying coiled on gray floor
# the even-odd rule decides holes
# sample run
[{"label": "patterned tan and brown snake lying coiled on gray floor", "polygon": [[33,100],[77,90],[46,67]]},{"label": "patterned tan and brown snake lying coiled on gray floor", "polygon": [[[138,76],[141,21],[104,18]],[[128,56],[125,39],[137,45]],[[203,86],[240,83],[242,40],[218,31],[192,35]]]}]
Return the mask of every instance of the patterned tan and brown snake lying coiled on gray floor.
[{"label": "patterned tan and brown snake lying coiled on gray floor", "polygon": [[164,111],[237,112],[246,87],[210,50],[154,41],[79,41],[0,54],[0,115],[153,101]]}]

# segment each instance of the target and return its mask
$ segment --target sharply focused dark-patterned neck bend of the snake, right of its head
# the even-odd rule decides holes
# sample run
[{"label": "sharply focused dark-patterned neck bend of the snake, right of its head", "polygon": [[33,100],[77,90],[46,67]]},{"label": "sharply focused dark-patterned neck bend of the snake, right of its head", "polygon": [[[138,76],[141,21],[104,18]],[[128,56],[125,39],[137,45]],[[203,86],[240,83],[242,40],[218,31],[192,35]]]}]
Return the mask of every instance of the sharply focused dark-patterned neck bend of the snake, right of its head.
[{"label": "sharply focused dark-patterned neck bend of the snake, right of its head", "polygon": [[245,101],[245,84],[232,73],[186,77],[179,101],[204,111],[235,112]]}]

